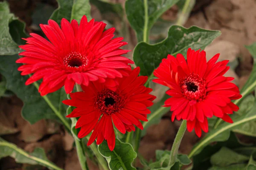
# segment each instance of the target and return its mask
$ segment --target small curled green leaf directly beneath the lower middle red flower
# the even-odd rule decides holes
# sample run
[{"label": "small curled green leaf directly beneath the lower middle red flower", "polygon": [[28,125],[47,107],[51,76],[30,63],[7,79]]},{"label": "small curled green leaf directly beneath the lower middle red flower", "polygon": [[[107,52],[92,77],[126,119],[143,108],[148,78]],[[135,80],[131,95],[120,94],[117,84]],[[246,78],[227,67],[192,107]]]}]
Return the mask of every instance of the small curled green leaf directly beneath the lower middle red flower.
[{"label": "small curled green leaf directly beneath the lower middle red flower", "polygon": [[116,139],[116,146],[111,152],[108,143],[103,141],[98,146],[99,153],[108,161],[108,167],[111,170],[136,170],[131,163],[137,157],[131,144],[123,143]]}]

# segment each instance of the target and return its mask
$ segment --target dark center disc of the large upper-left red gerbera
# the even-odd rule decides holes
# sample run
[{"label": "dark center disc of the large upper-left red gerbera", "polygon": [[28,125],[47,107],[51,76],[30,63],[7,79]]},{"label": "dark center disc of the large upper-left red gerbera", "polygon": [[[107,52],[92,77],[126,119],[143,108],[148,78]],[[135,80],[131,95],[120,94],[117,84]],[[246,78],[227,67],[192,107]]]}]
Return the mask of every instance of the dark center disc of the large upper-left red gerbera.
[{"label": "dark center disc of the large upper-left red gerbera", "polygon": [[79,68],[81,66],[86,66],[88,64],[88,59],[79,52],[71,52],[64,57],[63,62],[66,67]]}]

